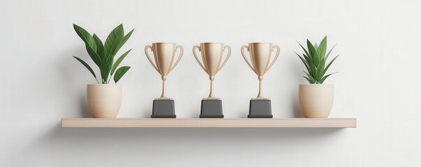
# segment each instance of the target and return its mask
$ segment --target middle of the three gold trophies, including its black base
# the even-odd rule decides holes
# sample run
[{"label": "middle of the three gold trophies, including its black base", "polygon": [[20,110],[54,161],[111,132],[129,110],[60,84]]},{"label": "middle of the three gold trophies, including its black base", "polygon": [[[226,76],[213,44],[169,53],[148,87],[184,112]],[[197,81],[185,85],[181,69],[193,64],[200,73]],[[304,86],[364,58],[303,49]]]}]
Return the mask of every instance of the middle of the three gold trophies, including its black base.
[{"label": "middle of the three gold trophies, including its black base", "polygon": [[[222,55],[224,50],[228,48],[228,54],[225,61],[222,63]],[[195,49],[199,49],[202,54],[202,62],[198,58]],[[200,67],[209,75],[210,80],[210,92],[207,98],[203,98],[202,105],[200,107],[200,118],[223,118],[222,113],[222,100],[214,95],[214,79],[215,75],[221,70],[223,65],[228,61],[231,54],[231,47],[223,45],[223,43],[200,43],[200,46],[195,45],[193,47],[193,55],[198,61]]]}]

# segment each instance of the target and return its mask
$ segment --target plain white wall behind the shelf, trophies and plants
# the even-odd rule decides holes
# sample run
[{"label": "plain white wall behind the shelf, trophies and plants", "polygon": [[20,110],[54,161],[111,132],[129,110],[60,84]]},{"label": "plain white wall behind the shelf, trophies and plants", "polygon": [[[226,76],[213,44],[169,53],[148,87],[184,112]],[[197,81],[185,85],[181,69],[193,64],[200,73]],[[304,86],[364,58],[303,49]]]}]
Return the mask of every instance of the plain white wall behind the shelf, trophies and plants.
[{"label": "plain white wall behind the shelf, trophies and plants", "polygon": [[[420,1],[1,1],[0,166],[421,166]],[[135,29],[119,52],[120,118],[148,118],[161,80],[145,57],[152,42],[184,46],[168,75],[179,118],[197,118],[209,80],[193,58],[200,42],[224,42],[232,55],[216,75],[226,118],[245,118],[258,91],[240,54],[247,42],[273,42],[281,56],[264,79],[276,118],[302,117],[304,66],[296,41],[337,44],[327,79],[330,117],[357,129],[61,129],[61,118],[90,117],[86,84],[72,56],[89,60],[78,24],[105,40],[123,23]],[[95,67],[96,69],[96,67]],[[98,70],[96,70],[98,72]]]}]

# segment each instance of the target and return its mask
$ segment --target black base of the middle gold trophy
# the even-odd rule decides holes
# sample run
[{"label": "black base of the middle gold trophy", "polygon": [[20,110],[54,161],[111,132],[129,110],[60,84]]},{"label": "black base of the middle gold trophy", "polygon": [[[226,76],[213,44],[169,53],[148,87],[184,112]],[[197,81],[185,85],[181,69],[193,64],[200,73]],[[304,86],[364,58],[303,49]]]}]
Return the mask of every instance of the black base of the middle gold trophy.
[{"label": "black base of the middle gold trophy", "polygon": [[200,118],[223,118],[222,100],[202,100]]}]

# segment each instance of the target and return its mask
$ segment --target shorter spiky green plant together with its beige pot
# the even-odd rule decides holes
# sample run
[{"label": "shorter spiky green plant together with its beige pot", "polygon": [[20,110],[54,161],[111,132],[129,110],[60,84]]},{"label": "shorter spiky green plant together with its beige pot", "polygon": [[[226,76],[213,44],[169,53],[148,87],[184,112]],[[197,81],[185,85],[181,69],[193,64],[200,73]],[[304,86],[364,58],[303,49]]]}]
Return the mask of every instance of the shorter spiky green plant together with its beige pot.
[{"label": "shorter spiky green plant together with its beige pot", "polygon": [[332,110],[334,89],[333,84],[323,84],[323,82],[327,77],[336,73],[326,74],[327,69],[339,55],[327,63],[327,58],[334,48],[332,47],[326,53],[327,36],[323,38],[320,45],[317,45],[317,43],[313,45],[307,40],[307,49],[300,42],[298,44],[304,50],[304,54],[302,56],[296,52],[295,54],[304,63],[306,76],[303,77],[309,81],[309,84],[300,84],[298,88],[301,111],[306,118],[327,118]]}]

